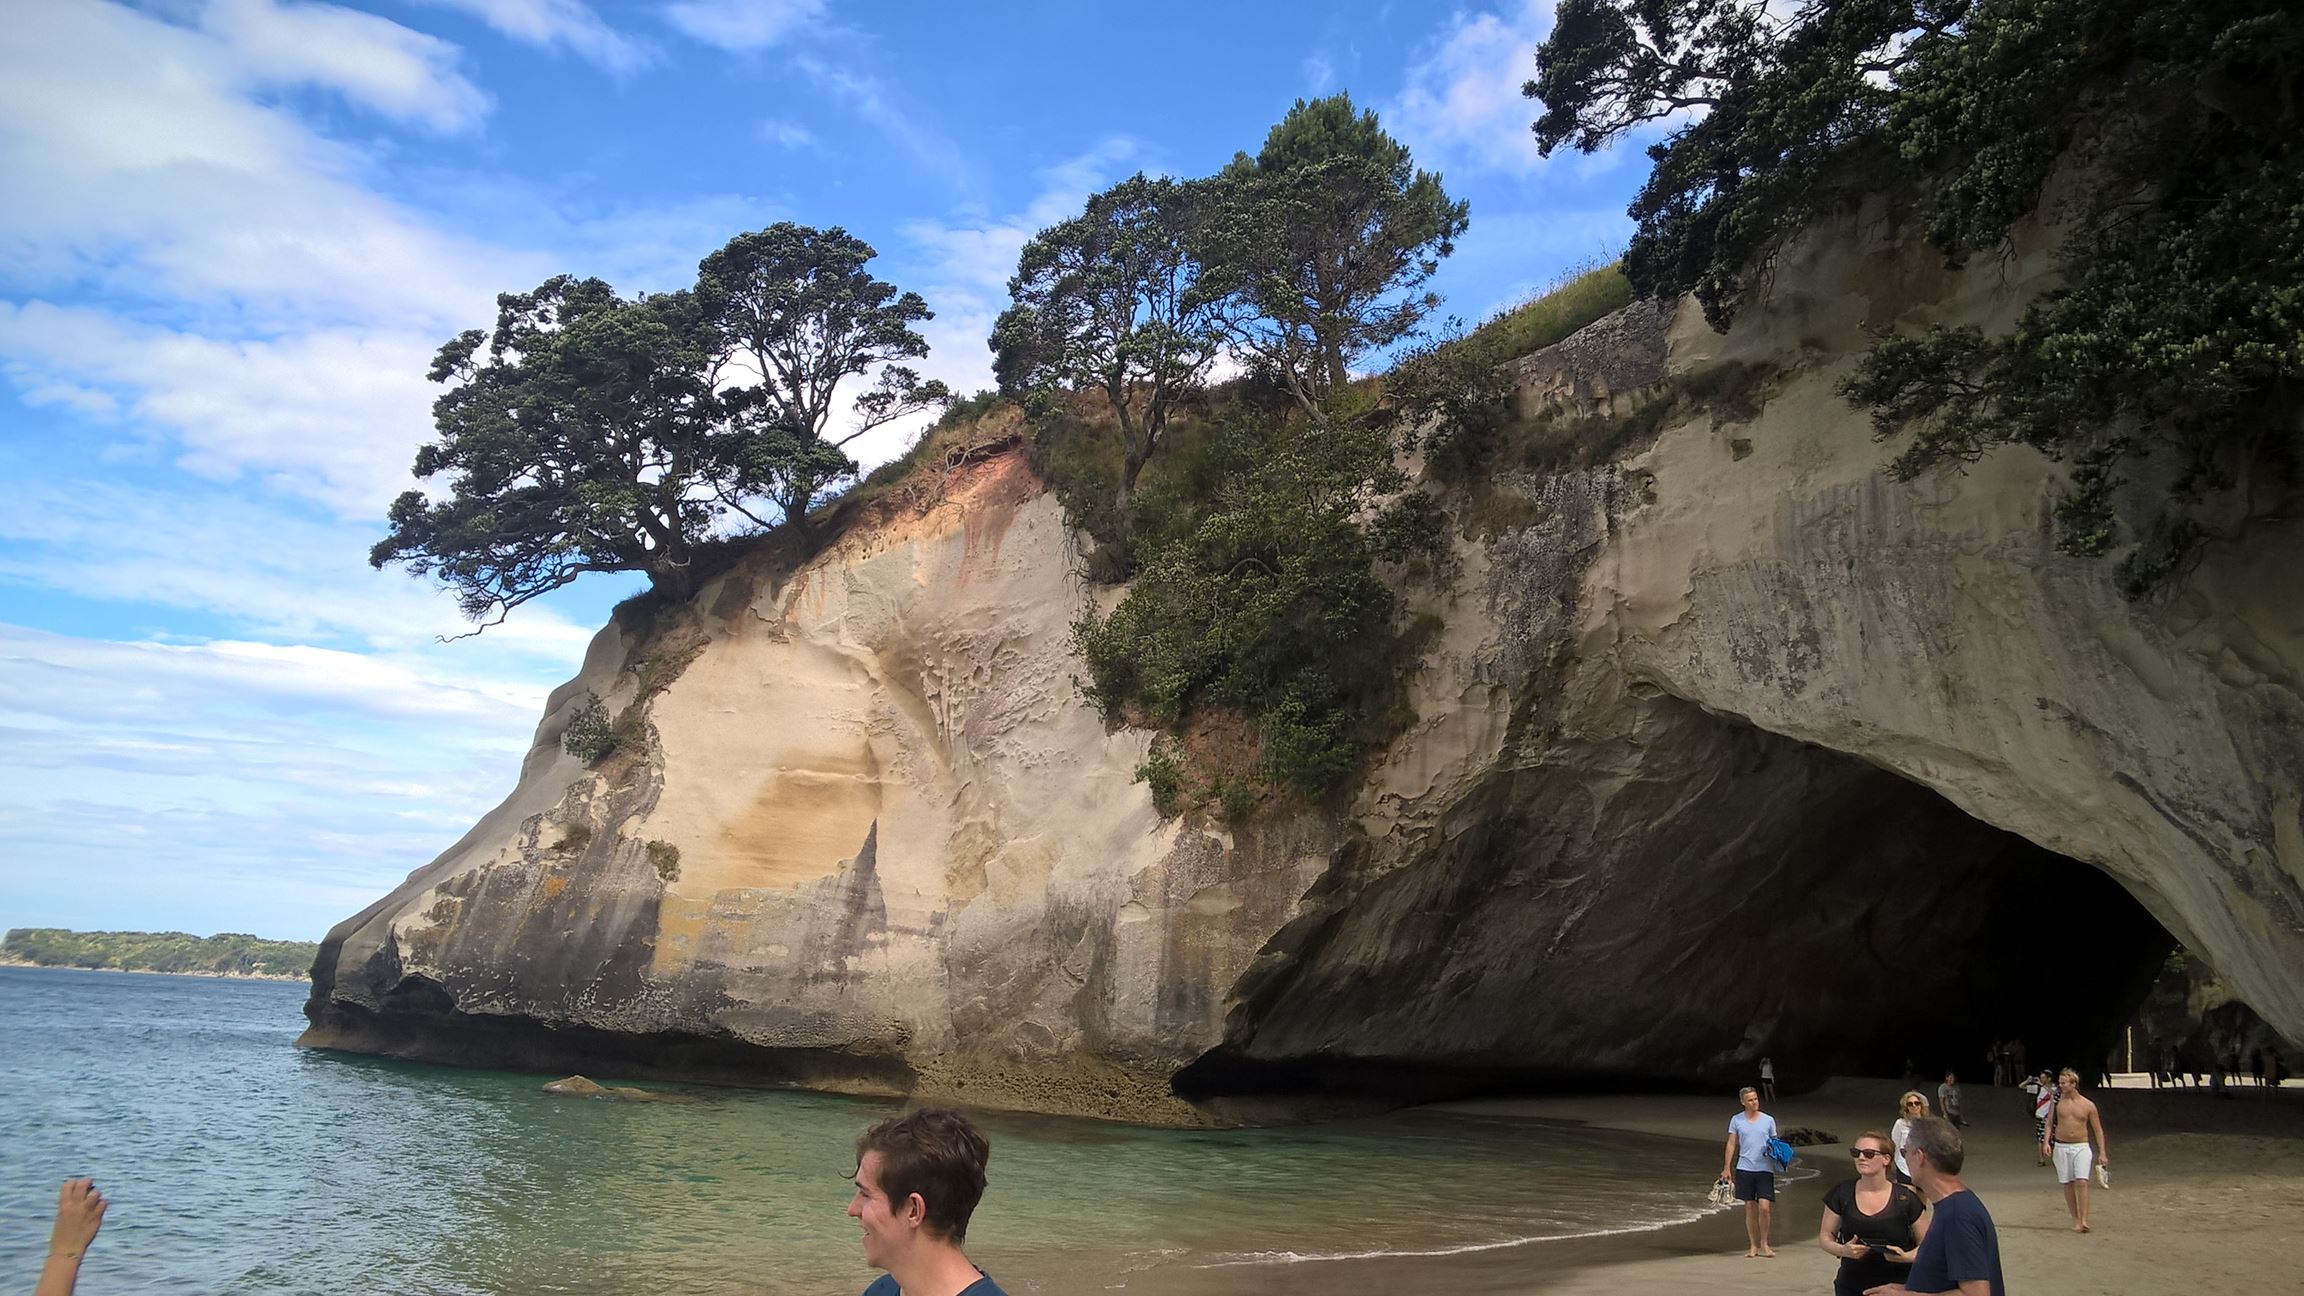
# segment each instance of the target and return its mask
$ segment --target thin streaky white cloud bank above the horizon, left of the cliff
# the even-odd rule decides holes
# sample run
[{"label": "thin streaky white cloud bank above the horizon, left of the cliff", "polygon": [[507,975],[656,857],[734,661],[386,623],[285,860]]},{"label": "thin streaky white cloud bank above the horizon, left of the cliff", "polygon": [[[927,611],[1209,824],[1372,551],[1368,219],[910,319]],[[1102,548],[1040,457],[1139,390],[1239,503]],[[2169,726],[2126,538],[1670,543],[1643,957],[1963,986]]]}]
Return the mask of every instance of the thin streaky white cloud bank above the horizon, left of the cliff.
[{"label": "thin streaky white cloud bank above the horizon, left of the cliff", "polygon": [[0,625],[0,699],[12,922],[318,936],[511,786],[541,690]]}]

